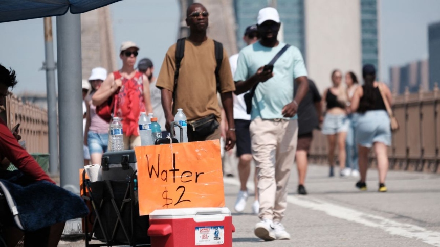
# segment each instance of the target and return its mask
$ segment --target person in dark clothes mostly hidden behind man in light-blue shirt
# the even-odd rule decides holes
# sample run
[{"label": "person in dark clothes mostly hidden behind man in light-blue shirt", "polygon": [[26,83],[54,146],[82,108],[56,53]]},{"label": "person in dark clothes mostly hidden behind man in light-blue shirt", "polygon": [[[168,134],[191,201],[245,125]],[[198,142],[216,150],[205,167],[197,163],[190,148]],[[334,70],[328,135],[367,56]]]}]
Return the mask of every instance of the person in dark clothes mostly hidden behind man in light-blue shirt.
[{"label": "person in dark clothes mostly hidden behind man in light-blue shirt", "polygon": [[[306,195],[305,176],[307,174],[307,166],[309,165],[308,156],[310,145],[313,140],[313,131],[319,128],[322,122],[322,104],[321,95],[312,80],[309,82],[309,91],[305,94],[298,106],[298,145],[296,147],[296,166],[298,169],[298,194]],[[295,94],[298,88],[295,83]]]}]

